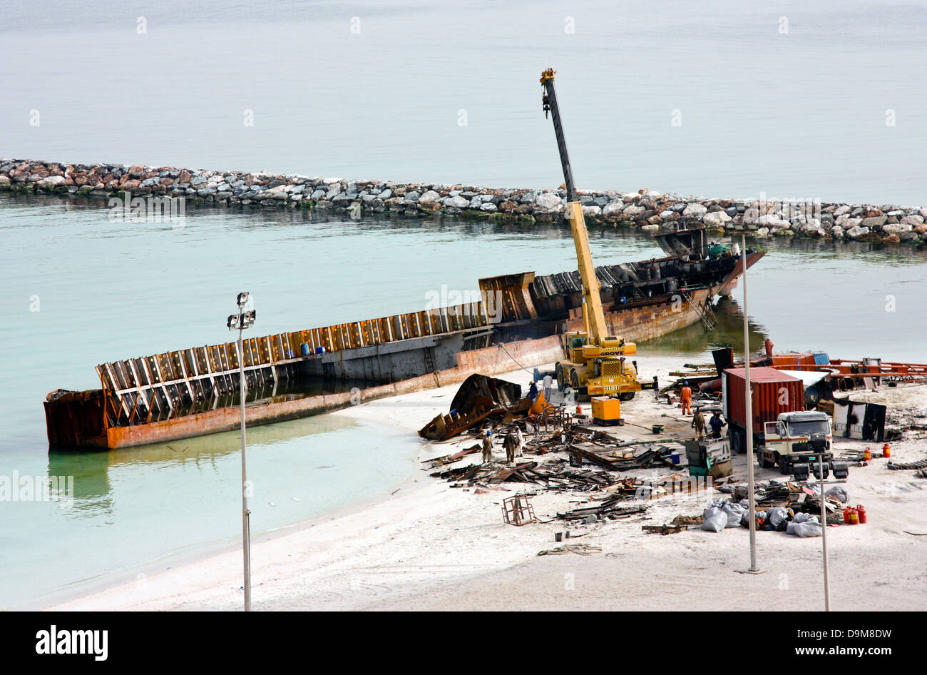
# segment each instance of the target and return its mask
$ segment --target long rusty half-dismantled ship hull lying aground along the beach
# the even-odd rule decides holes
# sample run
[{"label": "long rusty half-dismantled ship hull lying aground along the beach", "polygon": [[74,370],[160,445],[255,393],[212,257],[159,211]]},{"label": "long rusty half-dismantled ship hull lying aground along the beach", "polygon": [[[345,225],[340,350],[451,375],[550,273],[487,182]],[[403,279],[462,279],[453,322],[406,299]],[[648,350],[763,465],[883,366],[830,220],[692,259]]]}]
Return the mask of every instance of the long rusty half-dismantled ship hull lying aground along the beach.
[{"label": "long rusty half-dismantled ship hull lying aground along the beach", "polygon": [[[615,335],[644,341],[702,321],[730,295],[743,261],[709,247],[704,229],[655,237],[667,253],[596,268]],[[747,267],[763,252],[746,251]],[[562,356],[581,325],[578,272],[479,280],[480,301],[308,328],[244,341],[248,425],[271,424]],[[100,388],[57,389],[44,401],[54,448],[113,449],[239,427],[235,342],[96,366]]]}]

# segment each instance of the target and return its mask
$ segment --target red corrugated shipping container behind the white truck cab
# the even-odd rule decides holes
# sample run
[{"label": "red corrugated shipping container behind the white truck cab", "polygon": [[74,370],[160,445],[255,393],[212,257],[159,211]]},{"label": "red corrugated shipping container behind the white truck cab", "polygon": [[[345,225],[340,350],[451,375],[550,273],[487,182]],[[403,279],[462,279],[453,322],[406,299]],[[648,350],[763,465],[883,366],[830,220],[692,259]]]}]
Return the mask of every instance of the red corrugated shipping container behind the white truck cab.
[{"label": "red corrugated shipping container behind the white truck cab", "polygon": [[[721,390],[724,395],[724,416],[730,424],[746,427],[743,368],[724,371]],[[750,369],[750,389],[753,403],[753,429],[763,433],[766,422],[774,422],[781,413],[805,410],[805,387],[797,377],[775,368]]]}]

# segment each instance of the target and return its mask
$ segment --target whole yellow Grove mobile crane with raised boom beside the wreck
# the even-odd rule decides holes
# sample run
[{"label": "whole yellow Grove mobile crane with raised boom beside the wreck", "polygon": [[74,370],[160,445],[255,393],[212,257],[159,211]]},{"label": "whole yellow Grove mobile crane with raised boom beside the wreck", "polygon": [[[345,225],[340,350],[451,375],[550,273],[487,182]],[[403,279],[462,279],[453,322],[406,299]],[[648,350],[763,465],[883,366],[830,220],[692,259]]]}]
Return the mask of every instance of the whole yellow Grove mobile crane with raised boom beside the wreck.
[{"label": "whole yellow Grove mobile crane with raised boom beside the wreck", "polygon": [[577,248],[579,276],[582,279],[582,313],[585,328],[584,331],[565,334],[565,359],[557,363],[557,383],[561,389],[566,384],[570,385],[584,398],[614,395],[621,401],[629,401],[641,389],[655,388],[656,380],[654,378],[653,382],[638,382],[637,368],[625,358],[637,353],[637,346],[633,342],[626,342],[622,337],[608,335],[602,309],[602,285],[592,264],[589,234],[586,231],[586,221],[583,219],[576,185],[573,183],[573,171],[566,154],[560,109],[557,108],[557,97],[553,91],[555,72],[556,70],[549,68],[540,74],[540,83],[544,88],[542,104],[544,117],[546,118],[548,113],[551,114],[557,148],[560,150],[560,163],[564,169],[566,210],[573,232],[573,242]]}]

